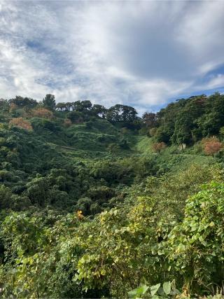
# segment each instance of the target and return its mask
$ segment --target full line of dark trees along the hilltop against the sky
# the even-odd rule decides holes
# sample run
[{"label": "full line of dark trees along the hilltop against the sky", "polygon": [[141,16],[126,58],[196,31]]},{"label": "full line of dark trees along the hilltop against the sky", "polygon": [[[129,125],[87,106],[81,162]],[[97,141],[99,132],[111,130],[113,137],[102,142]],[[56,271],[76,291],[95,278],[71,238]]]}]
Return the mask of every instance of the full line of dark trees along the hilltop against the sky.
[{"label": "full line of dark trees along the hilltop against the sky", "polygon": [[[55,96],[50,94],[41,102],[16,96],[13,99],[1,100],[0,104],[1,110],[43,108],[55,113],[65,113],[67,125],[88,122],[94,117],[102,118],[113,124],[120,123],[128,129],[140,130],[140,134],[148,134],[155,142],[164,142],[167,145],[190,146],[205,137],[224,135],[224,95],[218,92],[209,97],[199,95],[178,99],[158,113],[146,112],[141,118],[132,106],[116,104],[106,109],[105,106],[92,104],[89,100],[56,104]],[[39,111],[41,115],[41,110]],[[48,111],[42,113],[48,114]],[[49,118],[49,115],[45,118]]]}]

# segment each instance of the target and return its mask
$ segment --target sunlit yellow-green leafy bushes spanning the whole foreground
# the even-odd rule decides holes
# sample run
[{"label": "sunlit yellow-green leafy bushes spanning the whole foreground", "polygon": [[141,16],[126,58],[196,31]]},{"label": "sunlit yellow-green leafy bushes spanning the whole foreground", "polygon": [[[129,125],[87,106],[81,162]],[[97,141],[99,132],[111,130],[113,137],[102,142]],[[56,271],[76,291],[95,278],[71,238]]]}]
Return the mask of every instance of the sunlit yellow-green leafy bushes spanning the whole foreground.
[{"label": "sunlit yellow-green leafy bushes spanning the whole foreground", "polygon": [[223,198],[224,183],[207,183],[189,197],[179,222],[170,221],[168,209],[160,218],[165,207],[156,197],[138,197],[93,220],[80,211],[60,216],[52,227],[24,213],[8,216],[3,294],[127,298],[142,279],[149,286],[176,279],[185,295],[216,292],[224,279]]}]

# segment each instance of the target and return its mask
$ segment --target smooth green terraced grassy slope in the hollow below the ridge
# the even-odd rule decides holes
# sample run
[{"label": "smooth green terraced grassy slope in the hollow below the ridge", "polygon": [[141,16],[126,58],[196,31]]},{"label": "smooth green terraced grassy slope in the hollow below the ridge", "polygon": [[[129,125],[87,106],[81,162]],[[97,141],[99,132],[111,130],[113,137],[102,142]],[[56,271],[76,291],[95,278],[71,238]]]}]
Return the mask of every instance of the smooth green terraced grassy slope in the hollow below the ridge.
[{"label": "smooth green terraced grassy slope in the hollow below the ridge", "polygon": [[[91,127],[85,123],[71,125],[59,132],[45,130],[41,138],[54,151],[73,160],[98,160],[99,158],[118,158],[136,152],[137,137],[133,133],[122,134],[107,120],[95,120]],[[130,148],[121,148],[120,141],[127,140]],[[111,144],[114,146],[110,148]]]}]

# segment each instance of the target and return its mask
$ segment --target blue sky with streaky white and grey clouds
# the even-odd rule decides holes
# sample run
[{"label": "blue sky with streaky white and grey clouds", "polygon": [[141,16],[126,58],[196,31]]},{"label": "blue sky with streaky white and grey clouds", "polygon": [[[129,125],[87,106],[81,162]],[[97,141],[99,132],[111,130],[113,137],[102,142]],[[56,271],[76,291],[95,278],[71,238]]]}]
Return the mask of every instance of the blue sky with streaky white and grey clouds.
[{"label": "blue sky with streaky white and grey clouds", "polygon": [[158,111],[224,92],[224,1],[0,0],[0,98]]}]

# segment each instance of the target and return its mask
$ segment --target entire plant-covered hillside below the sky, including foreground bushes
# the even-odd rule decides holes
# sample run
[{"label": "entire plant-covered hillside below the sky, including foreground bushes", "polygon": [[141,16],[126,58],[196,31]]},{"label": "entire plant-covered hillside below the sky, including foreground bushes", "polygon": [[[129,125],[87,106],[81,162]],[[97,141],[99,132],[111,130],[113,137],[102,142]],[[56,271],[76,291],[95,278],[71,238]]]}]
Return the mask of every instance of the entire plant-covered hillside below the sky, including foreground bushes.
[{"label": "entire plant-covered hillside below the sky, including foreground bushes", "polygon": [[0,119],[1,297],[223,295],[224,95],[141,117],[17,96]]}]

